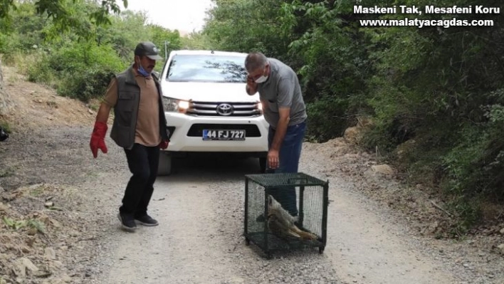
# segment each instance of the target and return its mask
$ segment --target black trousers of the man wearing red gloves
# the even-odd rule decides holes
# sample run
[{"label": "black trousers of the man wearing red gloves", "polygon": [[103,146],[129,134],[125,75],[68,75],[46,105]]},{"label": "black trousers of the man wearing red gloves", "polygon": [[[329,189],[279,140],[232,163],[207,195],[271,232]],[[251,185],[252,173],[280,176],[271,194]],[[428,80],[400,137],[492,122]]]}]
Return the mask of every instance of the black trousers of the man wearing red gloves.
[{"label": "black trousers of the man wearing red gloves", "polygon": [[125,152],[132,177],[127,183],[119,211],[121,214],[145,216],[157,177],[159,147],[135,144],[132,149],[125,149]]}]

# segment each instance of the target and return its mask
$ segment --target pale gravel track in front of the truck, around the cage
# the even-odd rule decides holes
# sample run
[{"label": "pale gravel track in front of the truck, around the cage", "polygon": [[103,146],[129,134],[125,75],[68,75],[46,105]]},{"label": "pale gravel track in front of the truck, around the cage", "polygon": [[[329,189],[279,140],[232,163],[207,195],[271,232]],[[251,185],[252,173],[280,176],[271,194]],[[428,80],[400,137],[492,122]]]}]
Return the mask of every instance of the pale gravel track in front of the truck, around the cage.
[{"label": "pale gravel track in front of the truck, around the cage", "polygon": [[[313,152],[305,153],[308,167],[301,170],[313,173]],[[160,226],[110,232],[99,283],[455,283],[443,261],[342,179],[330,178],[325,253],[277,253],[268,261],[241,236],[243,175],[256,170],[256,161],[188,160],[177,167],[156,184],[151,207]],[[110,227],[117,228],[113,216]]]}]

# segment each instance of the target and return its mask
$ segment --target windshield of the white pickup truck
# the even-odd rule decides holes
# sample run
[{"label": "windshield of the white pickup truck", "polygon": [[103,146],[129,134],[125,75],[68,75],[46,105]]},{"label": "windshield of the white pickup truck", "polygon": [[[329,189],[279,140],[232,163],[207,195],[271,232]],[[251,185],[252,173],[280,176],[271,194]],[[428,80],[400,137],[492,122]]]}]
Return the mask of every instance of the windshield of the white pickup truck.
[{"label": "windshield of the white pickup truck", "polygon": [[241,56],[177,55],[169,63],[171,82],[245,83],[245,58]]}]

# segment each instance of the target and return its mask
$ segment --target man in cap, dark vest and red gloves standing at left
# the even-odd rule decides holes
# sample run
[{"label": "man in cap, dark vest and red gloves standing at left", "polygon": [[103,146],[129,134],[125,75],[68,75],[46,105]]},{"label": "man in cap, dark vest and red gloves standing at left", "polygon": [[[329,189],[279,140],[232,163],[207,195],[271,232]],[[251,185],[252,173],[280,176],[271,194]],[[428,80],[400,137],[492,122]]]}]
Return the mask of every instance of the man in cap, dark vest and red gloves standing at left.
[{"label": "man in cap, dark vest and red gloves standing at left", "polygon": [[98,157],[98,149],[107,153],[105,135],[113,108],[115,116],[110,137],[124,148],[132,173],[117,216],[127,231],[135,231],[136,223],[158,225],[147,214],[157,177],[159,149],[166,149],[169,142],[161,88],[158,78],[152,74],[158,60],[162,58],[153,43],[138,43],[135,63],[110,81],[91,135],[93,157]]}]

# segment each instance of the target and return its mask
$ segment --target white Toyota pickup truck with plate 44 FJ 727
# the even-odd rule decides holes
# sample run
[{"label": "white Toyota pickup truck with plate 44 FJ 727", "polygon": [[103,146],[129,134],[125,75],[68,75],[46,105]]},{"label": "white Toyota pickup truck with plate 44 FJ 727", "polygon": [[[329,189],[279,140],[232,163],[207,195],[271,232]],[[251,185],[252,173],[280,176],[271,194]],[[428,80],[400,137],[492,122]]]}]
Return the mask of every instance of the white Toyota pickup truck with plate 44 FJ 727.
[{"label": "white Toyota pickup truck with plate 44 FJ 727", "polygon": [[268,123],[259,95],[245,90],[246,53],[172,51],[159,74],[169,146],[159,175],[172,172],[172,157],[213,152],[257,157],[266,168]]}]

